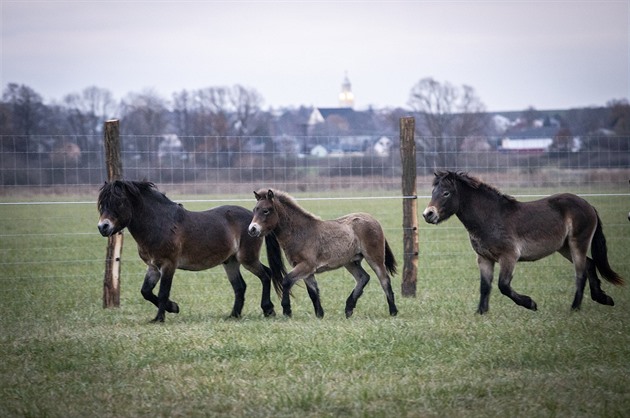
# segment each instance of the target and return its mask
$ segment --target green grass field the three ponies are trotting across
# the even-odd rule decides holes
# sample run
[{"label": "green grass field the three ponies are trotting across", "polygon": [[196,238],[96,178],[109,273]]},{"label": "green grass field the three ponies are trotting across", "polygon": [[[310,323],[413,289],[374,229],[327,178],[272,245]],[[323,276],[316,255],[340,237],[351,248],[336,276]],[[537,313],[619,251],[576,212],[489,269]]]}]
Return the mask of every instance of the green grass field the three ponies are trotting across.
[{"label": "green grass field the three ponies are trotting across", "polygon": [[[589,200],[604,220],[613,268],[630,280],[628,197]],[[323,218],[373,213],[402,263],[399,200],[304,206]],[[371,274],[345,319],[354,280],[338,270],[319,276],[322,320],[303,286],[293,318],[264,318],[258,279],[248,273],[243,318],[227,319],[233,294],[218,268],[178,272],[171,295],[181,313],[156,325],[128,233],[121,307],[102,309],[106,241],[96,221],[93,204],[0,205],[0,416],[630,415],[630,289],[604,283],[616,306],[586,296],[572,312],[572,267],[559,256],[517,267],[513,285],[537,312],[495,284],[481,317],[463,227],[423,223],[418,294],[402,298],[394,278],[395,318]]]}]

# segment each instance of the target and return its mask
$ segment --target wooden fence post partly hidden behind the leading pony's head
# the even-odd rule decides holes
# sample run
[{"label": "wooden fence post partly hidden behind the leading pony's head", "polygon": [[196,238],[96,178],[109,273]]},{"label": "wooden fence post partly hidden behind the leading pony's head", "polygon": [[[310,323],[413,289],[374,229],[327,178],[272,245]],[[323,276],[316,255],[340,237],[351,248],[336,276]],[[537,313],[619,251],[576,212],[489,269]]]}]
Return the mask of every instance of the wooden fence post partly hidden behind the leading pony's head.
[{"label": "wooden fence post partly hidden behind the leading pony's head", "polygon": [[[122,178],[122,162],[120,158],[120,133],[117,119],[105,122],[105,164],[107,180]],[[122,231],[107,239],[105,255],[105,277],[103,279],[103,308],[120,306],[120,264],[123,246]]]}]

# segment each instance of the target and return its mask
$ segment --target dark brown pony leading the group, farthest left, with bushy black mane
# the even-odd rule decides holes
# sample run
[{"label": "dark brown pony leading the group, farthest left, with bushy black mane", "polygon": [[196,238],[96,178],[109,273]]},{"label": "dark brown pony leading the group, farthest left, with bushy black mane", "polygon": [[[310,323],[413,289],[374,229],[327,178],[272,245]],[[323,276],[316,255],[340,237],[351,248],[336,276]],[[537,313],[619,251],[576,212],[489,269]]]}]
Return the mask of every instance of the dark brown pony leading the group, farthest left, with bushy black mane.
[{"label": "dark brown pony leading the group, farthest left, with bushy black mane", "polygon": [[[138,244],[140,258],[147,265],[142,296],[158,308],[153,321],[163,322],[165,312],[179,312],[177,303],[169,300],[176,269],[199,271],[219,264],[234,289],[232,317],[240,317],[245,301],[241,264],[262,282],[260,306],[264,315],[275,315],[270,289],[273,283],[280,294],[284,276],[282,253],[271,235],[265,240],[271,269],[259,261],[262,239],[247,233],[251,211],[240,206],[220,206],[191,212],[160,193],[153,183],[120,180],[101,188],[98,210],[101,235],[111,236],[127,228]],[[160,290],[156,296],[153,289],[158,281]]]}]

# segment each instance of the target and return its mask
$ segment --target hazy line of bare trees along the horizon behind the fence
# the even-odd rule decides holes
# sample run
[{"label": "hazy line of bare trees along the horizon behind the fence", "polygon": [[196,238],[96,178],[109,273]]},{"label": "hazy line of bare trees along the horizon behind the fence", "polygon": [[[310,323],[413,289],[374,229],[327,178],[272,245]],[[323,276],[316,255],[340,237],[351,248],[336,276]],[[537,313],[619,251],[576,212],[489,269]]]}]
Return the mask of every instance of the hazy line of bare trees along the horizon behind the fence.
[{"label": "hazy line of bare trees along the horizon behind the fence", "polygon": [[[412,87],[408,108],[352,112],[353,123],[336,116],[313,127],[308,124],[313,111],[310,107],[265,109],[263,103],[256,90],[239,85],[182,90],[172,94],[170,100],[146,90],[130,93],[120,101],[114,100],[109,90],[93,86],[68,94],[61,101],[44,103],[42,96],[29,86],[9,83],[0,101],[3,168],[0,183],[80,183],[86,178],[89,182],[100,182],[102,130],[104,122],[111,118],[121,120],[121,134],[126,137],[123,145],[127,147],[123,151],[128,151],[127,158],[134,158],[129,167],[136,167],[138,172],[129,174],[153,177],[158,172],[161,176],[169,172],[174,180],[181,181],[188,181],[191,176],[209,178],[208,173],[217,179],[224,178],[232,175],[230,168],[251,171],[251,175],[239,171],[241,179],[261,176],[275,179],[291,170],[297,176],[297,166],[310,163],[305,160],[298,163],[294,157],[296,146],[301,148],[299,153],[308,154],[313,145],[339,143],[343,137],[354,136],[363,143],[366,136],[386,135],[394,141],[395,148],[403,116],[416,117],[418,162],[428,171],[434,167],[466,167],[467,158],[488,159],[487,163],[475,163],[477,166],[503,161],[508,157],[498,159],[490,155],[488,151],[496,147],[488,147],[488,143],[501,135],[513,134],[510,130],[524,131],[536,126],[540,120],[557,124],[554,138],[557,151],[566,151],[571,142],[568,138],[581,136],[585,138],[585,150],[613,150],[605,155],[614,155],[614,161],[606,157],[597,166],[622,167],[629,163],[627,100],[611,100],[599,108],[538,111],[530,107],[504,112],[502,116],[517,122],[503,131],[495,123],[499,115],[486,111],[472,87],[454,86],[432,78],[422,79]],[[182,152],[191,157],[161,160],[160,144],[164,144],[165,137],[174,136],[181,140]],[[288,152],[289,149],[292,151]],[[275,172],[264,161],[270,152],[278,158],[291,153],[293,156],[286,158],[284,168]],[[568,167],[581,166],[588,157],[574,154],[558,153],[566,159],[564,164]],[[376,170],[376,174],[395,173],[397,164],[395,158],[380,161],[368,154],[348,154],[346,160],[331,162],[330,173],[323,174],[365,175],[365,167]],[[592,158],[589,161],[595,164]],[[295,167],[287,171],[291,164]],[[71,180],[71,175],[76,178]]]}]

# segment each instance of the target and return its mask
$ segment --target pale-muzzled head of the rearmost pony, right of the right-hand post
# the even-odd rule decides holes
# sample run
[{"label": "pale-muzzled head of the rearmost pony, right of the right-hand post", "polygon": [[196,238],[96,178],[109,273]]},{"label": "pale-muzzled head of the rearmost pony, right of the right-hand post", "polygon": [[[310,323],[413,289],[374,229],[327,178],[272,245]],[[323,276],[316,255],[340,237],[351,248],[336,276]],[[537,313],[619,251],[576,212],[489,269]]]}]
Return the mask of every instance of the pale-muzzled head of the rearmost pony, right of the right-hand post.
[{"label": "pale-muzzled head of the rearmost pony, right of the right-hand post", "polygon": [[457,181],[464,177],[474,180],[463,173],[453,171],[438,171],[435,173],[431,201],[424,212],[422,212],[426,222],[439,224],[457,213],[459,210]]}]

